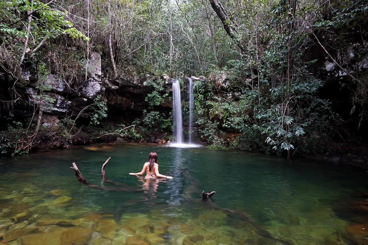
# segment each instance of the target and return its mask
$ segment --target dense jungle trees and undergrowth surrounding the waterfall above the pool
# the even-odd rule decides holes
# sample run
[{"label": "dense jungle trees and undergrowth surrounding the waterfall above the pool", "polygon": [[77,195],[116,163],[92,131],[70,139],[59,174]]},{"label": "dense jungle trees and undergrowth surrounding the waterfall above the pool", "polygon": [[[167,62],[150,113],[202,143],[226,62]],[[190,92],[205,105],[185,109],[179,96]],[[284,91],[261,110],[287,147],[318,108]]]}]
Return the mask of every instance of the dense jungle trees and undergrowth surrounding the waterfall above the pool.
[{"label": "dense jungle trees and undergrowth surrounding the waterfall above the pool", "polygon": [[[165,73],[183,87],[190,76],[206,78],[194,82],[195,114],[210,148],[347,154],[368,136],[367,11],[364,0],[1,1],[1,151],[28,151],[45,132],[72,142],[81,126],[106,125],[117,113],[120,123],[94,137],[171,132],[170,94],[158,78]],[[112,115],[97,96],[59,116],[57,129],[40,127],[55,104],[45,76],[77,96],[93,52],[103,79],[145,84],[145,108]],[[29,103],[25,70],[37,93],[21,117],[13,110]]]}]

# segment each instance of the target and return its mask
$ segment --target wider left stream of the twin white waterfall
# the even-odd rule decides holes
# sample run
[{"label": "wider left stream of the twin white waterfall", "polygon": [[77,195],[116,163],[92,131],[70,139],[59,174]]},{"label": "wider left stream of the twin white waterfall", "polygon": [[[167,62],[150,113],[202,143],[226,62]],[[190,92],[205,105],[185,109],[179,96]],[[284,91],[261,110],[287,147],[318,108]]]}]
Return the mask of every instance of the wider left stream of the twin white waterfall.
[{"label": "wider left stream of the twin white waterfall", "polygon": [[183,144],[183,117],[181,115],[180,83],[173,80],[173,125],[174,142]]}]

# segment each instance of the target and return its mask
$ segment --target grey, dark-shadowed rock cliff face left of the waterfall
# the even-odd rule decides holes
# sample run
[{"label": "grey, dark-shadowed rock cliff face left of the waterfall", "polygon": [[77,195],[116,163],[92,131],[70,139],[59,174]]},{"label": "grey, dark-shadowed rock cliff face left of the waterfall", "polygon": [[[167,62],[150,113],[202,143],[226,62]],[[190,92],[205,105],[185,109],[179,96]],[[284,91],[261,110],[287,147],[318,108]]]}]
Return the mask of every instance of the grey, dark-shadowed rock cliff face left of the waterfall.
[{"label": "grey, dark-shadowed rock cliff face left of the waterfall", "polygon": [[[121,114],[121,116],[127,114],[129,117],[134,117],[134,114],[140,115],[142,110],[147,108],[145,97],[150,92],[150,88],[145,86],[145,81],[160,79],[150,75],[143,78],[135,77],[133,80],[123,77],[107,79],[101,71],[101,56],[97,52],[91,54],[87,71],[87,79],[83,84],[68,83],[55,74],[48,74],[42,78],[43,84],[51,88],[45,95],[53,98],[53,102],[49,103],[44,110],[42,125],[55,126],[59,119],[67,115],[78,115],[97,96],[107,102],[109,111],[111,108],[114,114]],[[18,80],[7,76],[0,77],[0,80],[3,80],[0,100],[11,101],[4,103],[5,106],[0,111],[1,129],[6,129],[11,114],[15,117],[12,118],[13,120],[19,121],[33,116],[35,106],[40,104],[38,76],[32,68],[25,68]],[[165,81],[166,89],[170,90],[170,79]],[[165,106],[168,107],[167,109],[171,107],[170,104]],[[88,121],[86,119],[85,123]]]}]

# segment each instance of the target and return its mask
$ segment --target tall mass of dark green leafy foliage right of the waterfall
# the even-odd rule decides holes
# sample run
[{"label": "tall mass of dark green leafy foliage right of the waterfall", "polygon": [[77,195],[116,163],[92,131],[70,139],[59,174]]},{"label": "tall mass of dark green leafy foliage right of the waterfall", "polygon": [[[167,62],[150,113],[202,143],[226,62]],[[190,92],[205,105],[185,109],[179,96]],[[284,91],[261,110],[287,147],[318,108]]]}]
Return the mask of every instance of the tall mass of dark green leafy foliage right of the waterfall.
[{"label": "tall mass of dark green leafy foliage right of the waterfall", "polygon": [[[227,7],[233,5],[229,2]],[[316,60],[303,60],[309,45],[308,28],[296,23],[305,13],[295,10],[291,16],[293,8],[286,1],[275,5],[252,2],[247,8],[248,12],[238,14],[250,21],[238,28],[237,40],[243,51],[227,62],[228,68],[212,71],[214,80],[227,77],[230,85],[196,90],[202,134],[214,148],[227,141],[231,148],[276,154],[303,148],[307,135],[323,130],[328,120],[324,115],[329,114],[328,101],[316,96],[322,81],[308,70]],[[234,91],[241,96],[229,96]],[[321,127],[311,127],[316,120]],[[237,137],[226,138],[224,130]]]}]

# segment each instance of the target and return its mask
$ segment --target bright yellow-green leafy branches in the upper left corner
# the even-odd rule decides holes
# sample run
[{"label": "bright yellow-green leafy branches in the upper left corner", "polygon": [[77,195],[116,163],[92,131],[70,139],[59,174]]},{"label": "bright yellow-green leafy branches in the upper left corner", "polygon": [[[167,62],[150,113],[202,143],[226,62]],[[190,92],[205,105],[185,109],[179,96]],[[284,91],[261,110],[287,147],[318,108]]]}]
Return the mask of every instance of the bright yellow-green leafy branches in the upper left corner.
[{"label": "bright yellow-green leafy branches in the upper left corner", "polygon": [[68,20],[68,14],[38,0],[0,1],[0,67],[16,76],[24,52],[24,61],[37,63],[42,60],[42,55],[37,57],[40,47],[48,40],[62,35],[87,40]]}]

